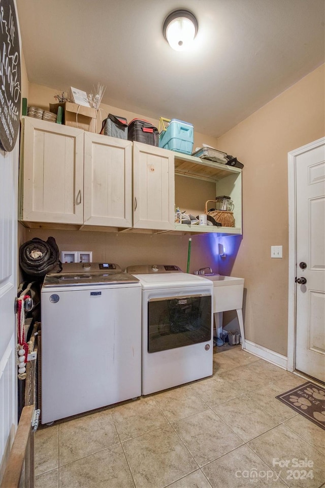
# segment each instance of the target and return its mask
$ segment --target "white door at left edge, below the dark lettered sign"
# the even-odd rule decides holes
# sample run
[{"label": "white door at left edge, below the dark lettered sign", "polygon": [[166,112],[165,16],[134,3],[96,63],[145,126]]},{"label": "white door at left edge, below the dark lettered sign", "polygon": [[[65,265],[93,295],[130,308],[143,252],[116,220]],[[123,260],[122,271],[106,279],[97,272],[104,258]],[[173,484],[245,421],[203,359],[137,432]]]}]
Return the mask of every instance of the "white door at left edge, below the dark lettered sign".
[{"label": "white door at left edge, below the dark lettered sign", "polygon": [[[17,187],[19,137],[0,150],[0,465],[6,464],[17,425],[16,326]],[[0,479],[3,473],[0,472]]]}]

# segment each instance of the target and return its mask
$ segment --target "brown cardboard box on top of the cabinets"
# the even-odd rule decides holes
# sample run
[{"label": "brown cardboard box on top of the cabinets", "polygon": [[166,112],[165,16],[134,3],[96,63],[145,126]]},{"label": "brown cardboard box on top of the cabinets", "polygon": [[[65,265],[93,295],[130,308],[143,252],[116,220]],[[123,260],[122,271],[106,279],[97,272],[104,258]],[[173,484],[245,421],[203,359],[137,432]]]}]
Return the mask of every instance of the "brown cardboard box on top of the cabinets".
[{"label": "brown cardboard box on top of the cabinets", "polygon": [[58,107],[63,108],[62,124],[76,127],[88,132],[96,132],[97,113],[96,109],[84,107],[77,103],[50,103],[50,112],[57,113]]}]

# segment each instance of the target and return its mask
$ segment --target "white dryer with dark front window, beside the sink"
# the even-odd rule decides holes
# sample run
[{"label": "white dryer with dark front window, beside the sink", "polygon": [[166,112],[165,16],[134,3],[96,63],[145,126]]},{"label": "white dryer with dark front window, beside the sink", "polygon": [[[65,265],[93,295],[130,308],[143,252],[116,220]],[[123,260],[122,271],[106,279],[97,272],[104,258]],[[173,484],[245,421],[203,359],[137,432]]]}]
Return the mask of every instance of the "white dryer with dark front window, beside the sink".
[{"label": "white dryer with dark front window, beside the sink", "polygon": [[212,375],[213,283],[175,265],[126,272],[142,286],[142,394]]}]

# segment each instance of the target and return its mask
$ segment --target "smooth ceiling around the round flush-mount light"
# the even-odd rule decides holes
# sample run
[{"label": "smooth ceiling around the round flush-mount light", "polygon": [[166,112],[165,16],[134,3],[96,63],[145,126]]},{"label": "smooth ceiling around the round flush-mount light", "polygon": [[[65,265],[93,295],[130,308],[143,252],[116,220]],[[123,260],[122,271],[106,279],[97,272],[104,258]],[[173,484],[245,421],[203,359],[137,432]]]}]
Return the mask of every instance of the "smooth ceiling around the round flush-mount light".
[{"label": "smooth ceiling around the round flush-mount light", "polygon": [[[214,137],[325,60],[324,0],[16,2],[30,82],[87,93],[100,82],[108,105]],[[177,8],[198,19],[192,52],[163,37]]]}]

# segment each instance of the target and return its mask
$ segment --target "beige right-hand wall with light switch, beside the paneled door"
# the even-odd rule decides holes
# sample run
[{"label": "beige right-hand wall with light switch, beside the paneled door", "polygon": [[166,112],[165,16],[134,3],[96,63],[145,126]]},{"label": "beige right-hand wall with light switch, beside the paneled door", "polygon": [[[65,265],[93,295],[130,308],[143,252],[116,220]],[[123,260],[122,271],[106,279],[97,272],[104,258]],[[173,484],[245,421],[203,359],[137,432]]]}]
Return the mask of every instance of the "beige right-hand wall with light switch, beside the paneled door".
[{"label": "beige right-hand wall with light switch, beside the paneled door", "polygon": [[[242,241],[231,238],[233,255],[220,261],[220,274],[245,278],[247,339],[285,356],[287,153],[325,135],[324,87],[323,65],[218,139],[218,149],[245,165]],[[282,259],[271,259],[272,245],[283,246]]]}]

